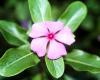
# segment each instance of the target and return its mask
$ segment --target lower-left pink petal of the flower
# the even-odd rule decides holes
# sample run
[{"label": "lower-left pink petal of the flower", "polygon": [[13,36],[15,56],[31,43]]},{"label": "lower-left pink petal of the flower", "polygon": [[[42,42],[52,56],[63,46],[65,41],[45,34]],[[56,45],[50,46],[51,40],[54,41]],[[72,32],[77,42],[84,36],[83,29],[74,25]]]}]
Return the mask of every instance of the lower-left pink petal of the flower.
[{"label": "lower-left pink petal of the flower", "polygon": [[42,57],[46,54],[48,39],[47,38],[37,38],[33,39],[31,42],[31,49],[37,53],[39,57]]}]

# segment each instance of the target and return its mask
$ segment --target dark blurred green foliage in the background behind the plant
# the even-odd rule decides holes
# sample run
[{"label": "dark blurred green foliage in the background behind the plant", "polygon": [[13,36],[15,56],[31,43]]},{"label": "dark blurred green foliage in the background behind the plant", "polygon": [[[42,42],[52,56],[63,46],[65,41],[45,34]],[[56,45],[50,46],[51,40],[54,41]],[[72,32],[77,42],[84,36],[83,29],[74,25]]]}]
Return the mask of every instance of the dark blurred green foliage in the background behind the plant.
[{"label": "dark blurred green foliage in the background behind the plant", "polygon": [[[76,0],[49,0],[52,6],[53,17],[56,19],[61,15],[65,8],[73,1]],[[100,56],[100,1],[99,0],[80,0],[88,7],[88,15],[80,25],[79,29],[75,32],[76,43],[72,48],[83,49],[87,52],[95,53]],[[0,1],[0,20],[14,21],[24,28],[28,28],[32,23],[28,1],[27,0],[1,0]],[[12,47],[7,44],[2,35],[0,34],[0,56],[3,55],[6,49]],[[39,64],[41,65],[41,64]],[[90,74],[88,72],[77,72],[70,66],[66,66],[65,73],[68,76],[63,76],[63,80],[100,80],[100,74]],[[6,78],[1,77],[0,80],[45,80],[44,77],[53,79],[50,74],[47,76],[38,74],[40,69],[32,70],[29,68],[17,76]],[[37,75],[36,75],[37,74]],[[39,76],[39,77],[37,77]],[[70,76],[70,77],[69,77]],[[68,77],[68,78],[67,78]],[[71,78],[73,77],[73,78]],[[48,79],[46,79],[48,80]],[[59,79],[61,80],[61,79]]]}]

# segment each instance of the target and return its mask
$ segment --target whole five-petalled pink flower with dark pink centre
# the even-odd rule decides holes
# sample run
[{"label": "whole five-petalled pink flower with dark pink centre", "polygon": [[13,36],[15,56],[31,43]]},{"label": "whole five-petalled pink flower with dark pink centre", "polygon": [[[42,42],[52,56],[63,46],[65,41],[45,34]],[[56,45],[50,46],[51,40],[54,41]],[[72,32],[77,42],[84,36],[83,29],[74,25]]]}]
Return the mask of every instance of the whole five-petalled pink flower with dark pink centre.
[{"label": "whole five-petalled pink flower with dark pink centre", "polygon": [[47,54],[49,59],[57,59],[66,55],[64,44],[71,45],[75,42],[70,28],[64,27],[62,22],[40,22],[32,26],[29,36],[33,38],[31,49],[39,57]]}]

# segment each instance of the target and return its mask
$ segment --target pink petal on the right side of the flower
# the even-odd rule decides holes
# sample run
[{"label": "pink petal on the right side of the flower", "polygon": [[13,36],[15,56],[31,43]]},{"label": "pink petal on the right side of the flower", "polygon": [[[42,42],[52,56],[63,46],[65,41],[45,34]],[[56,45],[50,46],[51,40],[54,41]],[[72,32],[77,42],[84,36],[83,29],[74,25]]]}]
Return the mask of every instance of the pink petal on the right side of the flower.
[{"label": "pink petal on the right side of the flower", "polygon": [[74,35],[68,27],[63,28],[59,33],[57,33],[55,39],[67,45],[71,45],[75,42]]}]

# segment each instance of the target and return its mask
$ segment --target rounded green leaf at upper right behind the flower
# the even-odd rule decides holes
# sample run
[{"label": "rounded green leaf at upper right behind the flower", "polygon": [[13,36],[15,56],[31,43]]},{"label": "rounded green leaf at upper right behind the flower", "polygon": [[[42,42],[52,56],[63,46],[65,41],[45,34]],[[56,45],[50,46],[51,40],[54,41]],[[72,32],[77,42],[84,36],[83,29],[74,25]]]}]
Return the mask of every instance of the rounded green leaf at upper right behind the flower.
[{"label": "rounded green leaf at upper right behind the flower", "polygon": [[84,20],[87,14],[86,6],[80,2],[73,2],[65,12],[59,18],[59,21],[64,22],[65,26],[68,26],[74,32]]}]

